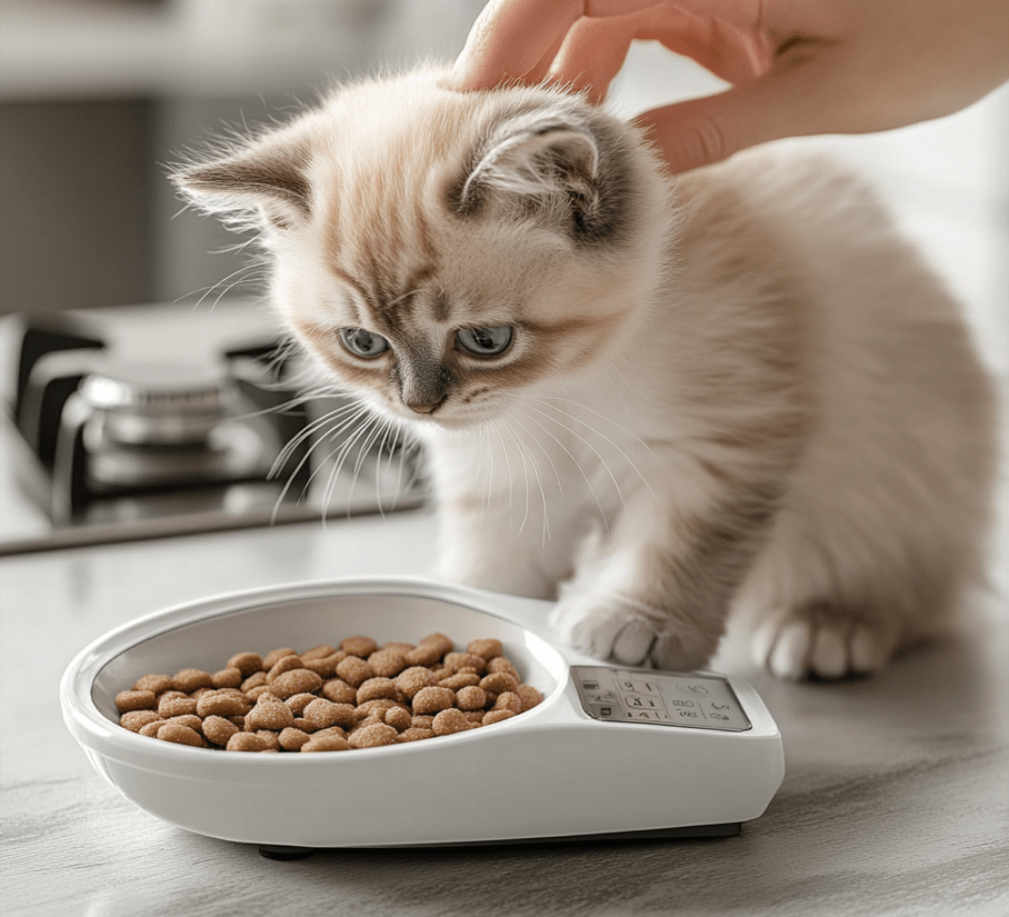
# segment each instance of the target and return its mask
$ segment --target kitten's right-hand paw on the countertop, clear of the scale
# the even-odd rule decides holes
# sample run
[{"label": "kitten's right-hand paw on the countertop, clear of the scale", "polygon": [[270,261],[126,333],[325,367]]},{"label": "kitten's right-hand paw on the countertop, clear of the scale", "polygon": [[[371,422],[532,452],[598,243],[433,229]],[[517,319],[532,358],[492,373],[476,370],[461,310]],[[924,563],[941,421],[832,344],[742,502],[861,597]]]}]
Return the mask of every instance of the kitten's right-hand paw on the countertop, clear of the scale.
[{"label": "kitten's right-hand paw on the countertop, clear of the scale", "polygon": [[753,635],[753,660],[778,678],[845,678],[869,675],[889,658],[886,640],[862,624],[787,618]]}]

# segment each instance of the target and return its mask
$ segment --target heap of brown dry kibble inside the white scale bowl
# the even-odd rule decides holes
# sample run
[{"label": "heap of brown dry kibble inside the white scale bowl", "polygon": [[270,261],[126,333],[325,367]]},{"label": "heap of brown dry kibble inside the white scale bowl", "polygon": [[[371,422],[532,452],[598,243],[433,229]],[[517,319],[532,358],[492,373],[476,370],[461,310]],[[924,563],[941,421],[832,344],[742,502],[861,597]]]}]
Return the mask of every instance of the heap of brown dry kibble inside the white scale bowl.
[{"label": "heap of brown dry kibble inside the white scale bowl", "polygon": [[144,675],[116,695],[119,722],[163,741],[228,751],[343,751],[462,732],[531,709],[500,640],[454,650],[348,637],[304,652],[238,652],[220,671]]}]

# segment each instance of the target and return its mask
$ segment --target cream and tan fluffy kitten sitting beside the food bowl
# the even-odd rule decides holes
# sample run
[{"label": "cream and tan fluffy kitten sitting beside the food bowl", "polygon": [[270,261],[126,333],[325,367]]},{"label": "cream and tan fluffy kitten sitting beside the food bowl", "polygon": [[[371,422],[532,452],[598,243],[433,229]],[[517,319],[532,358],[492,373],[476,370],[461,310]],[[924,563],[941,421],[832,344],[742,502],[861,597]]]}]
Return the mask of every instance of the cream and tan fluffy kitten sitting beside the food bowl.
[{"label": "cream and tan fluffy kitten sitting beside the food bowl", "polygon": [[286,325],[426,445],[441,574],[559,597],[580,650],[703,666],[735,610],[781,677],[870,672],[981,575],[993,389],[825,160],[670,178],[579,97],[422,69],[174,181],[251,215]]}]

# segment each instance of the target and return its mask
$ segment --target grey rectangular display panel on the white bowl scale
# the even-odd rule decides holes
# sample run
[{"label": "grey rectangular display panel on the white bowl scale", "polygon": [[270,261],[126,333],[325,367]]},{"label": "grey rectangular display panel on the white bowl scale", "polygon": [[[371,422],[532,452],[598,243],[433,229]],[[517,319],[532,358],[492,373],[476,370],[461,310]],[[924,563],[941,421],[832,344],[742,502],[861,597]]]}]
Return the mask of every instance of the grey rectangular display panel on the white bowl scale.
[{"label": "grey rectangular display panel on the white bowl scale", "polygon": [[643,722],[745,732],[752,728],[726,678],[572,666],[582,709],[607,722]]}]

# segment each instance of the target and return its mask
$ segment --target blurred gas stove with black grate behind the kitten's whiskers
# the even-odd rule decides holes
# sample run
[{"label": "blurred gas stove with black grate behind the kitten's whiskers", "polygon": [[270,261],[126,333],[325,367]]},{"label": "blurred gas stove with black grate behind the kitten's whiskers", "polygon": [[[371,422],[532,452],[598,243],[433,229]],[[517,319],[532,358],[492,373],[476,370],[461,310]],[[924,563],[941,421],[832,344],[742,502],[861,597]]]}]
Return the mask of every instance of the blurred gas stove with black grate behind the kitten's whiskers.
[{"label": "blurred gas stove with black grate behind the kitten's whiskers", "polygon": [[421,456],[282,342],[263,303],[0,322],[0,555],[423,502]]}]

